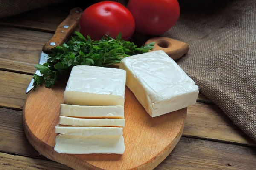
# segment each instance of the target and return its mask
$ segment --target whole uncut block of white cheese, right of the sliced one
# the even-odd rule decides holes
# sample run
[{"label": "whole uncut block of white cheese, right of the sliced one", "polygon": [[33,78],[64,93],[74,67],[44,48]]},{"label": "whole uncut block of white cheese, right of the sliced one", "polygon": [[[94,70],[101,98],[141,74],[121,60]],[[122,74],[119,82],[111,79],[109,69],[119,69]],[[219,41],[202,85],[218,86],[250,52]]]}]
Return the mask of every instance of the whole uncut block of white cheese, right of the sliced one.
[{"label": "whole uncut block of white cheese, right of the sliced one", "polygon": [[196,102],[198,86],[165,52],[152,51],[122,59],[126,85],[152,117]]}]

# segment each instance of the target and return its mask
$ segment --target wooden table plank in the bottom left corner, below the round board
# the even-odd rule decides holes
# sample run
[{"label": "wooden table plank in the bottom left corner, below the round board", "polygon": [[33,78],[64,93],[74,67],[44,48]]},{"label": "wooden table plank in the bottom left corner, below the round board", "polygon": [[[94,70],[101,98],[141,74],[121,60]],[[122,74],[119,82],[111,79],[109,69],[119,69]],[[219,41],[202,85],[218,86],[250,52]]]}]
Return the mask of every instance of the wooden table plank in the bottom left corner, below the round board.
[{"label": "wooden table plank in the bottom left corner, below the round board", "polygon": [[54,161],[0,153],[1,170],[72,170]]}]

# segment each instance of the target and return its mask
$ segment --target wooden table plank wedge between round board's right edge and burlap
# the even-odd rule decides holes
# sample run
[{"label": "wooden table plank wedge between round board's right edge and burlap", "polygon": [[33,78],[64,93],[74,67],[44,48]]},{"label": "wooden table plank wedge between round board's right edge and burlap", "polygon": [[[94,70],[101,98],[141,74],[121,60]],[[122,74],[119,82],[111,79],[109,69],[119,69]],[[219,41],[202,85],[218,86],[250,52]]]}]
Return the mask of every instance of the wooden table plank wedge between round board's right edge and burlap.
[{"label": "wooden table plank wedge between round board's right edge and burlap", "polygon": [[204,103],[188,107],[183,136],[256,146],[218,106]]}]

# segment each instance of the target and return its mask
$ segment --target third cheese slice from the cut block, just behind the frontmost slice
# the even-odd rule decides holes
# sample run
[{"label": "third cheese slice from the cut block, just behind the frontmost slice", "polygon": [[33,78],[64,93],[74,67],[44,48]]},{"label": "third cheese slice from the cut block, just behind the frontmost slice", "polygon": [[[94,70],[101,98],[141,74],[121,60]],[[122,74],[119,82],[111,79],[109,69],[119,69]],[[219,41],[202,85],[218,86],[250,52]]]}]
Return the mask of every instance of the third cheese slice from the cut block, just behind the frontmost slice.
[{"label": "third cheese slice from the cut block, just behind the frontmost slice", "polygon": [[122,135],[122,127],[75,127],[57,125],[55,126],[55,133],[77,135],[77,136],[96,136],[96,135]]}]

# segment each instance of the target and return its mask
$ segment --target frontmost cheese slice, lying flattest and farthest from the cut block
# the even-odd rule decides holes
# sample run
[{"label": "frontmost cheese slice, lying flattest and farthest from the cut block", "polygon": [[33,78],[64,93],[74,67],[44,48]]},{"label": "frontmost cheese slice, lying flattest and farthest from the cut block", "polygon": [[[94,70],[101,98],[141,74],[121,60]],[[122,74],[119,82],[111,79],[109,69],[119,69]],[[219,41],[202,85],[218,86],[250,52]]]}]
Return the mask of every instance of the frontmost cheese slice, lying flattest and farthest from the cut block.
[{"label": "frontmost cheese slice, lying flattest and farthest from the cut block", "polygon": [[123,154],[123,136],[74,136],[59,134],[55,139],[54,150],[69,154]]}]

